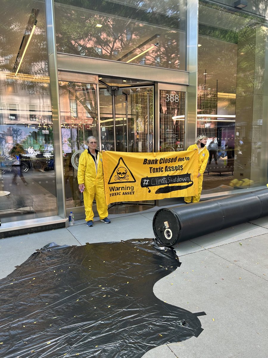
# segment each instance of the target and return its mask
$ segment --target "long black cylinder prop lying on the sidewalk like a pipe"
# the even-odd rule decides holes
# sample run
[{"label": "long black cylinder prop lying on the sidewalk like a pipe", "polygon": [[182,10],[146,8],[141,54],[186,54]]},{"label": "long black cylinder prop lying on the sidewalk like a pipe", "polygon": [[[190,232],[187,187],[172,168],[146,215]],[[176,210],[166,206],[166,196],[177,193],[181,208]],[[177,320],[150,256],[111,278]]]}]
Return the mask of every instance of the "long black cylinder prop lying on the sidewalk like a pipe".
[{"label": "long black cylinder prop lying on the sidewalk like a pipe", "polygon": [[262,189],[159,209],[153,218],[153,231],[161,244],[172,246],[267,215],[268,189]]}]

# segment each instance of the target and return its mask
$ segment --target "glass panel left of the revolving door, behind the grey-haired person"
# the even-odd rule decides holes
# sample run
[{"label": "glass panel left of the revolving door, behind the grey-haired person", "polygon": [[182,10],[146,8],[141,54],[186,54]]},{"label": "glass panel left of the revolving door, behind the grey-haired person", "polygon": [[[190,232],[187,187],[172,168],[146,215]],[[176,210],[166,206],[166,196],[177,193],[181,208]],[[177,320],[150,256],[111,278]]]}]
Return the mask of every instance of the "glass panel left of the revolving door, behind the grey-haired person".
[{"label": "glass panel left of the revolving door, behind the grey-haired person", "polygon": [[89,136],[98,138],[96,85],[60,81],[59,90],[65,202],[66,208],[74,208],[84,205],[77,181],[80,153],[88,148],[86,139]]}]

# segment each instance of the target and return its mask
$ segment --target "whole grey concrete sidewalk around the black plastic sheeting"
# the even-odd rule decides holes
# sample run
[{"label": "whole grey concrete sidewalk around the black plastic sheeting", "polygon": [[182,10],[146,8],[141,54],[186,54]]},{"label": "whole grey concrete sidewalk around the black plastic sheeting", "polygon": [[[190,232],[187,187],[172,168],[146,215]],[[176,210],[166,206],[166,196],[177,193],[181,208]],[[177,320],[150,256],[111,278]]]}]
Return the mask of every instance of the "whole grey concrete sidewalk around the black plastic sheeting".
[{"label": "whole grey concrete sidewalk around the black plastic sheeting", "polygon": [[[159,208],[98,219],[73,227],[0,240],[0,278],[10,274],[36,249],[50,242],[85,245],[154,238]],[[268,217],[210,233],[174,246],[182,265],[159,280],[155,295],[200,316],[203,332],[182,343],[165,344],[143,358],[267,358]],[[130,352],[131,355],[131,352]]]}]

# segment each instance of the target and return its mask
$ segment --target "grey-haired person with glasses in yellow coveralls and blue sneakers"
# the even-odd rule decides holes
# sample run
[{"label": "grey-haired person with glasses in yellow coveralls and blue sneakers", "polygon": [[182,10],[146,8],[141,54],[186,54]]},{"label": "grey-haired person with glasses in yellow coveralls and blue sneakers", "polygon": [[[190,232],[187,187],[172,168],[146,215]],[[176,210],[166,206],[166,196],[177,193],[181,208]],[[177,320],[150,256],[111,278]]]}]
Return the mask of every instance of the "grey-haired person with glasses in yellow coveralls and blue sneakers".
[{"label": "grey-haired person with glasses in yellow coveralls and blue sneakers", "polygon": [[79,190],[84,194],[86,225],[93,226],[92,203],[94,197],[100,221],[109,224],[111,221],[108,219],[108,206],[105,200],[102,154],[96,149],[95,137],[88,137],[86,144],[88,149],[85,149],[80,155],[77,173]]}]

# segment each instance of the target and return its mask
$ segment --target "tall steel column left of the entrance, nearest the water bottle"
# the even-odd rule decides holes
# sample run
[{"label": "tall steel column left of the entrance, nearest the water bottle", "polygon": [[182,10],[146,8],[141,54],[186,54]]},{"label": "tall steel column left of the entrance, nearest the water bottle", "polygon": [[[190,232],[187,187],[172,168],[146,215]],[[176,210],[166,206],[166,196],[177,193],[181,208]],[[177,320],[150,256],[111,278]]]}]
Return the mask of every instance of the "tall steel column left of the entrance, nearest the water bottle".
[{"label": "tall steel column left of the entrance, nearest the water bottle", "polygon": [[64,190],[64,176],[63,176],[63,155],[62,155],[61,125],[60,125],[60,102],[59,102],[59,84],[58,84],[59,82],[58,82],[57,49],[56,49],[53,0],[45,0],[45,5],[46,5],[46,28],[48,34],[48,63],[49,63],[52,121],[53,121],[53,133],[54,133],[54,155],[55,155],[58,215],[62,218],[66,218],[65,190]]}]

